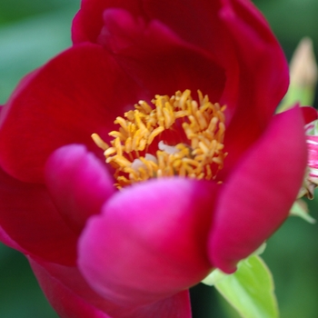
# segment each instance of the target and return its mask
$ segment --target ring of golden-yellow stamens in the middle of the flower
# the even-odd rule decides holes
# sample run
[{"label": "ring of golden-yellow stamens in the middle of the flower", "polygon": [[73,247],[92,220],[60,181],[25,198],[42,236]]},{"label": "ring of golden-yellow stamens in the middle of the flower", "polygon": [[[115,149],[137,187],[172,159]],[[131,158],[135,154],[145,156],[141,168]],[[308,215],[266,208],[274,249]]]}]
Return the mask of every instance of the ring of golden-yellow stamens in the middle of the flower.
[{"label": "ring of golden-yellow stamens in the middle of the flower", "polygon": [[109,133],[111,145],[92,134],[106,163],[114,167],[115,185],[173,175],[215,179],[226,156],[225,106],[212,104],[200,91],[197,102],[189,90],[171,97],[155,95],[152,104],[140,101],[117,117],[114,124],[120,127]]}]

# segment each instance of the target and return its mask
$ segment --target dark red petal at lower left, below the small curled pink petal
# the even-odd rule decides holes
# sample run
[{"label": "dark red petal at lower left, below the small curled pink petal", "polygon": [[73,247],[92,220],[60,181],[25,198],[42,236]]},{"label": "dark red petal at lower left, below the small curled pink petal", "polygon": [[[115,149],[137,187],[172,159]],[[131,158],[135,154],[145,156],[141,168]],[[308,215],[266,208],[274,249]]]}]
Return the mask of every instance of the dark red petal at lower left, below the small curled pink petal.
[{"label": "dark red petal at lower left, below the small curled pink petal", "polygon": [[[75,263],[77,237],[65,225],[45,187],[22,183],[1,169],[0,224],[21,246],[21,252],[55,263]],[[5,237],[3,242],[12,246]]]}]

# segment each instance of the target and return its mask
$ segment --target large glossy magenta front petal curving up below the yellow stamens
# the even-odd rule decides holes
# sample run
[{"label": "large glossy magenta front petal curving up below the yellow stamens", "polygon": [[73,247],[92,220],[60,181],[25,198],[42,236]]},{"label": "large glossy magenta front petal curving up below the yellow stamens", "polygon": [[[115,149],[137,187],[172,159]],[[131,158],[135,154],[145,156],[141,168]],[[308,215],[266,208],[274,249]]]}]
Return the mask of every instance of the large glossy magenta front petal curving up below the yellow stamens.
[{"label": "large glossy magenta front petal curving up below the yellow stamens", "polygon": [[88,221],[79,268],[92,288],[122,305],[154,303],[210,271],[206,239],[216,185],[183,178],[136,184]]}]

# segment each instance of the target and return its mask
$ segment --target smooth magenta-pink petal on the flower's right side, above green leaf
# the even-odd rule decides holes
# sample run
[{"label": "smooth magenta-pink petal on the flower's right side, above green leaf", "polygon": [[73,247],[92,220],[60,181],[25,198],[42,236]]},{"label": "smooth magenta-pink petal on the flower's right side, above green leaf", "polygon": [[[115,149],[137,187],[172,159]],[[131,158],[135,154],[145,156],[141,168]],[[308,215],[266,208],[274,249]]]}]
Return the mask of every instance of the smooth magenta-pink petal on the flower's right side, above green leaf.
[{"label": "smooth magenta-pink petal on the flower's right side, above green leaf", "polygon": [[300,108],[275,115],[223,185],[209,243],[216,267],[233,273],[283,223],[303,182],[306,158]]}]

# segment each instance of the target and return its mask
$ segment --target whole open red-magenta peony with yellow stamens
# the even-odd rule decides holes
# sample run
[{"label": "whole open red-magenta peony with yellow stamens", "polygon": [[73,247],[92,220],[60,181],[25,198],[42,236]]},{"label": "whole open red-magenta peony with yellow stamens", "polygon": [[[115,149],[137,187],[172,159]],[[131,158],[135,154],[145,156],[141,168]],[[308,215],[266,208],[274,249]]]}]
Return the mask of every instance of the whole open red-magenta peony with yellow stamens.
[{"label": "whole open red-magenta peony with yellow stamens", "polygon": [[282,50],[244,0],[83,0],[73,40],[1,110],[1,239],[61,317],[190,317],[302,184]]}]

